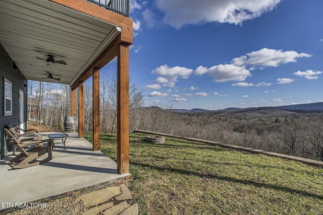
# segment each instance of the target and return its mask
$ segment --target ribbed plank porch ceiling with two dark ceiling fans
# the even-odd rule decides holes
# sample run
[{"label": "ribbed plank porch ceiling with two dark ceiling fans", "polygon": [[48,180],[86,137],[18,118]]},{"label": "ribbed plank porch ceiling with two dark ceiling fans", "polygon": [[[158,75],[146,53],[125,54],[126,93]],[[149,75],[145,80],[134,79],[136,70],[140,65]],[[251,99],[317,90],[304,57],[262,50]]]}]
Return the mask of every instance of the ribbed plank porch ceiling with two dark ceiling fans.
[{"label": "ribbed plank porch ceiling with two dark ceiling fans", "polygon": [[[104,10],[85,1],[68,3],[80,2]],[[0,43],[27,80],[69,85],[121,33],[118,25],[47,0],[2,0],[0,20]],[[48,54],[67,65],[47,65],[36,58],[46,59]],[[48,74],[61,80],[48,79]]]}]

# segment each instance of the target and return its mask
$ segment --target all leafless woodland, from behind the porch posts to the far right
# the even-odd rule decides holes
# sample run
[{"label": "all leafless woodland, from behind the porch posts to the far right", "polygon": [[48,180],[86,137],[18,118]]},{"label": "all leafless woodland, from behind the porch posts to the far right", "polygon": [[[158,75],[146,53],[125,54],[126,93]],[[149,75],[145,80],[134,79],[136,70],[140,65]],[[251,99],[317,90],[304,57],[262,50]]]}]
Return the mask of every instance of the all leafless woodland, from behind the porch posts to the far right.
[{"label": "all leafless woodland, from behind the porch posts to the far right", "polygon": [[[115,76],[102,78],[101,132],[117,131],[116,86]],[[38,122],[62,128],[64,117],[71,113],[68,86],[61,86],[60,90],[55,92],[48,90],[50,84],[47,83],[39,85],[33,83],[32,87],[36,88],[37,94],[31,94],[31,96],[40,98],[41,113]],[[278,107],[259,107],[178,112],[172,110],[172,105],[143,107],[143,91],[131,81],[129,95],[130,131],[142,129],[176,134],[323,160],[323,113],[321,111],[306,113],[306,111],[291,112],[295,110],[283,110]],[[317,104],[314,106],[317,107]],[[77,105],[76,109],[77,113]],[[90,82],[84,84],[84,131],[92,131]]]}]

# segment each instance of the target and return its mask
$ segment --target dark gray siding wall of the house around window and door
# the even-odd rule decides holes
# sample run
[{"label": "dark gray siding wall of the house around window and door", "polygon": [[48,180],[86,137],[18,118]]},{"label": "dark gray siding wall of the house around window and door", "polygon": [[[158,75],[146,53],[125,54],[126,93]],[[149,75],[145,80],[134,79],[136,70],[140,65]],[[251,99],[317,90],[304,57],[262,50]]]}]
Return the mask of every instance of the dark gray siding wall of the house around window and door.
[{"label": "dark gray siding wall of the house around window and door", "polygon": [[[12,115],[5,116],[4,111],[4,80],[12,83]],[[13,148],[7,145],[4,127],[7,124],[19,125],[19,90],[24,92],[24,127],[27,122],[27,80],[0,44],[0,156],[3,158]]]}]

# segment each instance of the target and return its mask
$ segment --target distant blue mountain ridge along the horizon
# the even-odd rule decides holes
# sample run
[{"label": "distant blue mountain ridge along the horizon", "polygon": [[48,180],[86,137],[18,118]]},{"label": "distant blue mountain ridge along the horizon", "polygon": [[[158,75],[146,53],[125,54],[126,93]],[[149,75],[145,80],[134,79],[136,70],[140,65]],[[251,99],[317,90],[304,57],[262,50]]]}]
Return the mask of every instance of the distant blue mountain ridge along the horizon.
[{"label": "distant blue mountain ridge along the horizon", "polygon": [[[172,109],[172,112],[177,113],[189,113],[189,112],[210,112],[211,110],[201,109],[201,108],[193,108],[191,110],[188,109]],[[316,103],[307,103],[307,104],[295,104],[295,105],[284,105],[284,106],[276,106],[276,107],[248,107],[248,108],[235,108],[230,107],[223,110],[211,111],[211,112],[281,112],[281,111],[289,111],[296,113],[323,113],[323,102]]]}]

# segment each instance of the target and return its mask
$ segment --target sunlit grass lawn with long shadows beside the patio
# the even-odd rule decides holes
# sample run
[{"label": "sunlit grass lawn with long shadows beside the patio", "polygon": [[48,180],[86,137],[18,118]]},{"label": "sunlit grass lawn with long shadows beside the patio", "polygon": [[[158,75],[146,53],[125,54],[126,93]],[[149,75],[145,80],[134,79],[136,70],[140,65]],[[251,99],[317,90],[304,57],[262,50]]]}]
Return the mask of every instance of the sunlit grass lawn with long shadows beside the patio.
[{"label": "sunlit grass lawn with long shadows beside the patio", "polygon": [[[140,214],[323,214],[323,169],[166,137],[130,134],[130,190]],[[91,134],[86,134],[91,142]],[[100,150],[117,159],[117,134]]]}]

